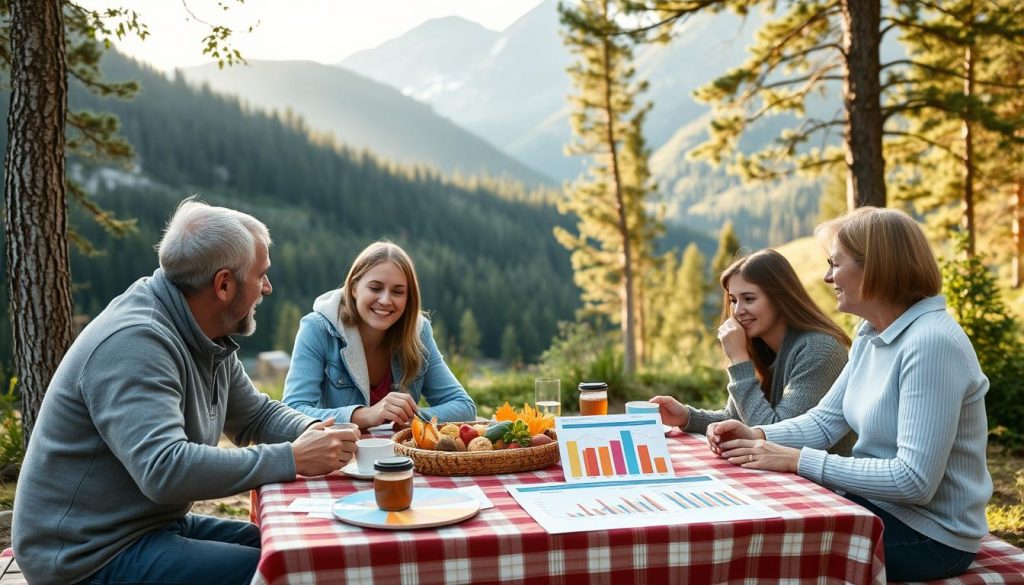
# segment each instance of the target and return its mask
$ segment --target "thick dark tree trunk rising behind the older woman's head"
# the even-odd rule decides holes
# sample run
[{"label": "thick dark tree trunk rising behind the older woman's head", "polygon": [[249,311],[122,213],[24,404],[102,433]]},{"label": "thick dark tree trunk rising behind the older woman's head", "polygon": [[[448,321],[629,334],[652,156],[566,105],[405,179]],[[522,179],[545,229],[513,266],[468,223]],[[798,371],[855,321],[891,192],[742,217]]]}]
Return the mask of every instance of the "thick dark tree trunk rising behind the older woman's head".
[{"label": "thick dark tree trunk rising behind the older woman's head", "polygon": [[841,0],[843,101],[846,108],[847,206],[886,206],[886,162],[882,156],[880,0]]}]

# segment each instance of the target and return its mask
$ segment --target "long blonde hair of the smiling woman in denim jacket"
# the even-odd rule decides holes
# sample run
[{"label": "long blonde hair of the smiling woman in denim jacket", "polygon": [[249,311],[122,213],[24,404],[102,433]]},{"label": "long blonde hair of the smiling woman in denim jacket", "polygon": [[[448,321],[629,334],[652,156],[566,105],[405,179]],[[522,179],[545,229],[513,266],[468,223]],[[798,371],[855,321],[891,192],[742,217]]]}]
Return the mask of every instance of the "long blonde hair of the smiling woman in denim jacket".
[{"label": "long blonde hair of the smiling woman in denim jacket", "polygon": [[427,352],[423,340],[420,339],[420,282],[416,278],[416,267],[409,254],[397,245],[387,241],[374,242],[359,252],[359,255],[352,262],[352,267],[348,269],[348,276],[345,277],[345,283],[342,285],[345,294],[343,295],[344,300],[338,307],[338,318],[342,323],[351,327],[362,323],[359,311],[355,307],[353,291],[364,275],[383,262],[391,262],[398,266],[406,275],[408,282],[406,310],[402,311],[398,321],[384,333],[384,347],[392,356],[397,353],[401,364],[401,380],[395,381],[402,388],[408,388],[420,372],[424,356]]}]

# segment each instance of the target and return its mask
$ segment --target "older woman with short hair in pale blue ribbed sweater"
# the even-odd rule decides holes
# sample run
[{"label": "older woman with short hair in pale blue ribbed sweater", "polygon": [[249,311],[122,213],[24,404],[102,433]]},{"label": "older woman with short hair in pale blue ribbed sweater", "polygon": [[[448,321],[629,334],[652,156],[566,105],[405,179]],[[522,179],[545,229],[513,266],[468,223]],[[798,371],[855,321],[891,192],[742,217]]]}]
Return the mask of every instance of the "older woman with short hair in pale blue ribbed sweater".
[{"label": "older woman with short hair in pale blue ribbed sweater", "polygon": [[[988,379],[945,310],[938,265],[910,217],[860,208],[815,233],[839,309],[864,320],[850,362],[803,416],[710,425],[709,444],[734,464],[799,473],[878,514],[889,579],[959,575],[988,532]],[[850,430],[852,457],[824,451]]]}]

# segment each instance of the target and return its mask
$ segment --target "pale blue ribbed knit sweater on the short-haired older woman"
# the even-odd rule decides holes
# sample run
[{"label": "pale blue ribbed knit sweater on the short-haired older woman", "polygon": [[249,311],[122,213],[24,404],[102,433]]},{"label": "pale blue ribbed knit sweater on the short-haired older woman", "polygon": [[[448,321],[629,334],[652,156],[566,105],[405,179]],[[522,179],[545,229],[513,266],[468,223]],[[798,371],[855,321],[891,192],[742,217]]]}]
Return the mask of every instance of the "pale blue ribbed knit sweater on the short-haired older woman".
[{"label": "pale blue ribbed knit sweater on the short-haired older woman", "polygon": [[[941,296],[884,331],[861,325],[850,362],[821,403],[762,427],[803,447],[798,472],[863,496],[915,531],[976,552],[988,533],[992,479],[985,460],[988,378]],[[853,429],[853,457],[823,451]]]}]

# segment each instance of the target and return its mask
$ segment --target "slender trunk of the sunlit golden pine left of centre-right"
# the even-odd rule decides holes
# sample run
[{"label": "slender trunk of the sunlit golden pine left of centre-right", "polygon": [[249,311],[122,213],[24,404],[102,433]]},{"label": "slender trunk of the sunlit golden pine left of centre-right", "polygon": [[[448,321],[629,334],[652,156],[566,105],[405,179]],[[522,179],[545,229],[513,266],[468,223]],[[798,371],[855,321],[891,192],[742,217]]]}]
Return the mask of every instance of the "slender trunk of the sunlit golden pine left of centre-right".
[{"label": "slender trunk of the sunlit golden pine left of centre-right", "polygon": [[[608,18],[608,2],[605,0],[601,4],[605,20]],[[615,109],[611,103],[611,40],[608,34],[603,37],[604,50],[604,114],[607,116],[608,126],[605,140],[608,144],[608,154],[611,157],[612,189],[615,192],[615,211],[618,221],[618,235],[623,240],[623,372],[629,376],[636,370],[636,323],[635,309],[636,302],[633,296],[633,252],[630,246],[630,228],[626,221],[627,209],[623,198],[623,179],[618,170],[618,144],[615,136]]]}]

